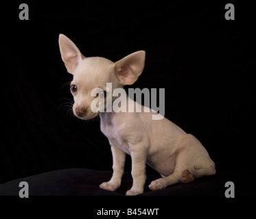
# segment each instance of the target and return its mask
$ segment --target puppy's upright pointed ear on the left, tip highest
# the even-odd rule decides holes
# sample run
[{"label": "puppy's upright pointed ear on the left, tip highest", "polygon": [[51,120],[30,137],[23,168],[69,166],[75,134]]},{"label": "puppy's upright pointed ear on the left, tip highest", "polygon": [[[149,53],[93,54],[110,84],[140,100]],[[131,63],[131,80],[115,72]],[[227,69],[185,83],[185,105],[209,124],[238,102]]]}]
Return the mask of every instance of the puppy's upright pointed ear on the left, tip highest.
[{"label": "puppy's upright pointed ear on the left, tip highest", "polygon": [[67,71],[73,75],[75,68],[78,66],[83,56],[78,47],[76,47],[67,36],[60,34],[58,43],[60,46],[61,58],[65,63]]}]

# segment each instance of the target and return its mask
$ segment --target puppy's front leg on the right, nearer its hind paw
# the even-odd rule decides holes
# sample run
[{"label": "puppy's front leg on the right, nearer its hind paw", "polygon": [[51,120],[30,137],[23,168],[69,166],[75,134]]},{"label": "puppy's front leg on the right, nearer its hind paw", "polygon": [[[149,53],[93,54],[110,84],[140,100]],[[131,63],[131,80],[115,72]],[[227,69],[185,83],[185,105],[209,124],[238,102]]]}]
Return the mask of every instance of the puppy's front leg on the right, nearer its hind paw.
[{"label": "puppy's front leg on the right, nearer its hind paw", "polygon": [[132,157],[132,188],[126,192],[127,196],[135,196],[140,194],[144,190],[144,184],[146,182],[146,158],[147,152],[138,147],[132,149],[130,153]]}]

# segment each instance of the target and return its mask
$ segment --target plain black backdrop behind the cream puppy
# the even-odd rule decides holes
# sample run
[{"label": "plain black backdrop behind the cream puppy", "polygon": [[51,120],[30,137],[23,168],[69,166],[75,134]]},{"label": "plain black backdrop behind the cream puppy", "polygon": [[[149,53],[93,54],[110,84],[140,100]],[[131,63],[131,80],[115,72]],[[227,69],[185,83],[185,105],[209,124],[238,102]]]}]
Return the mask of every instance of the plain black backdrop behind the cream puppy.
[{"label": "plain black backdrop behind the cream puppy", "polygon": [[[29,5],[29,21],[19,5]],[[62,168],[111,170],[100,119],[70,113],[58,35],[113,62],[146,50],[130,88],[165,88],[165,117],[205,146],[217,171],[255,170],[255,19],[228,1],[14,1],[1,10],[0,183]],[[130,170],[127,156],[126,170]],[[148,171],[150,168],[148,168]]]}]

